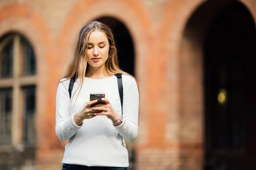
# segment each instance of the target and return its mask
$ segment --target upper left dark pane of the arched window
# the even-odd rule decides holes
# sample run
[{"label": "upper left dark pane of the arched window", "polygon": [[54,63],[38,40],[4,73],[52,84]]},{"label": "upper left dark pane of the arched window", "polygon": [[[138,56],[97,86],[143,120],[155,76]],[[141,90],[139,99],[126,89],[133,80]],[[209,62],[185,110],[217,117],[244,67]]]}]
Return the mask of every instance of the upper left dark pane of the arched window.
[{"label": "upper left dark pane of the arched window", "polygon": [[1,77],[12,77],[13,41],[10,41],[0,54],[0,73]]}]

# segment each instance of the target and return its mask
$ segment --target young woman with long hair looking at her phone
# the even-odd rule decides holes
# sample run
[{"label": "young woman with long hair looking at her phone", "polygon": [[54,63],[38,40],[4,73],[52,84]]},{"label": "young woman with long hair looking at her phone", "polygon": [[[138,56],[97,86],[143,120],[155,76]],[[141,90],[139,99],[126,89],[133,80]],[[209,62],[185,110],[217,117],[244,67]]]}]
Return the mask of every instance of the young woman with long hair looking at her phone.
[{"label": "young woman with long hair looking at her phone", "polygon": [[[123,107],[117,78],[122,73]],[[77,77],[71,99],[69,83]],[[91,93],[104,93],[105,104],[90,107]],[[118,67],[111,29],[93,21],[84,26],[73,59],[56,94],[55,131],[69,140],[62,160],[63,170],[127,170],[128,151],[123,138],[138,134],[139,91],[137,81]]]}]

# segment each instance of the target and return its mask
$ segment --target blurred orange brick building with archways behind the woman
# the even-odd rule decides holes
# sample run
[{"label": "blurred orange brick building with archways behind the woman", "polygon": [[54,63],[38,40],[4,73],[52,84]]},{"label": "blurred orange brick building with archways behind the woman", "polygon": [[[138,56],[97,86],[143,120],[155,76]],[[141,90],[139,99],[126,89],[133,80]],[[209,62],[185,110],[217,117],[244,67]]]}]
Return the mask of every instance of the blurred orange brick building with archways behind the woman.
[{"label": "blurred orange brick building with archways behind the woman", "polygon": [[140,84],[130,170],[256,169],[256,0],[0,0],[0,170],[61,169],[56,88],[92,20]]}]

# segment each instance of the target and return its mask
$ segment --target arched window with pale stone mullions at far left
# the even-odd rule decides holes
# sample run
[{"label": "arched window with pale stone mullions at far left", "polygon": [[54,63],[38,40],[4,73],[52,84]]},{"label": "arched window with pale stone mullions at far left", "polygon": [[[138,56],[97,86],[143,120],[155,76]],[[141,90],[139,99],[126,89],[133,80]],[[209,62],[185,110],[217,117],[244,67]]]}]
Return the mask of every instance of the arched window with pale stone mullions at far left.
[{"label": "arched window with pale stone mullions at far left", "polygon": [[26,150],[35,146],[35,87],[32,45],[20,34],[3,36],[0,39],[0,148],[22,146]]}]

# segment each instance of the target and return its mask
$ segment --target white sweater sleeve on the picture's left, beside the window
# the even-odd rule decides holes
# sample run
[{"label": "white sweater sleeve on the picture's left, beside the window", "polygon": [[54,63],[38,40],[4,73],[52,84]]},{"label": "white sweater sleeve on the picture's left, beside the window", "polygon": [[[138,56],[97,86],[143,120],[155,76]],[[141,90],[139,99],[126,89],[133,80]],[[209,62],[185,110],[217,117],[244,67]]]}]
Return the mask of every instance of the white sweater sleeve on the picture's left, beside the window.
[{"label": "white sweater sleeve on the picture's left, beside the window", "polygon": [[[65,87],[65,84],[67,84]],[[70,97],[68,92],[69,81],[60,82],[56,93],[56,125],[55,132],[61,141],[74,136],[83,126],[76,125],[73,115],[70,115]]]}]

